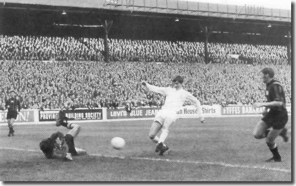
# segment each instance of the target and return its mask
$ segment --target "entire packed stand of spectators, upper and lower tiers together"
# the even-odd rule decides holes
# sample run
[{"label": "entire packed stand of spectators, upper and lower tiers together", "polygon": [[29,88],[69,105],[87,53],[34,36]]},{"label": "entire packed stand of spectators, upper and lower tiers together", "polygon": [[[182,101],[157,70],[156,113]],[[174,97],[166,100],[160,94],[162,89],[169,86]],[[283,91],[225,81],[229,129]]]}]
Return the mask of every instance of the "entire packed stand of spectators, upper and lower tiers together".
[{"label": "entire packed stand of spectators, upper and lower tiers together", "polygon": [[164,97],[139,82],[166,86],[176,74],[203,104],[251,104],[265,100],[256,72],[266,65],[291,102],[285,46],[209,43],[211,64],[198,42],[110,39],[109,47],[106,64],[102,39],[0,35],[0,108],[11,88],[25,109],[161,106]]}]

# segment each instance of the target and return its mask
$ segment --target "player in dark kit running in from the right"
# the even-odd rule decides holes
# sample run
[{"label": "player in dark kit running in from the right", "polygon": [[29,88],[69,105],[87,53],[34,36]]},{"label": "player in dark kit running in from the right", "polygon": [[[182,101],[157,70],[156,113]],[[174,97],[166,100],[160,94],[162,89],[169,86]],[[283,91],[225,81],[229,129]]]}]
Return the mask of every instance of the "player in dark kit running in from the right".
[{"label": "player in dark kit running in from the right", "polygon": [[[263,83],[266,84],[265,96],[267,102],[254,103],[254,107],[265,107],[262,121],[254,129],[253,135],[256,139],[266,138],[267,146],[273,157],[267,162],[279,162],[281,157],[275,140],[281,136],[284,142],[288,142],[287,128],[288,112],[286,110],[285,93],[280,82],[274,80],[274,71],[271,68],[264,68],[262,71]],[[272,128],[272,129],[270,129]]]}]

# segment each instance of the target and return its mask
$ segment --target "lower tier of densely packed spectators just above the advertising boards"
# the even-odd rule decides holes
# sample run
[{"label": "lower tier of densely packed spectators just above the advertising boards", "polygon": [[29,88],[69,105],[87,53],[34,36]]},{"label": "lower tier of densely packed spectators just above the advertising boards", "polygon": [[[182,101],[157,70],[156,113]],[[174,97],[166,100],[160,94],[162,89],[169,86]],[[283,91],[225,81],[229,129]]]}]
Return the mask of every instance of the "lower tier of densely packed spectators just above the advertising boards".
[{"label": "lower tier of densely packed spectators just above the advertising boards", "polygon": [[[21,108],[161,106],[164,96],[140,82],[169,86],[176,75],[202,104],[252,104],[263,101],[259,72],[266,65],[119,61],[0,60],[0,107],[15,90]],[[268,65],[291,103],[291,66]]]}]

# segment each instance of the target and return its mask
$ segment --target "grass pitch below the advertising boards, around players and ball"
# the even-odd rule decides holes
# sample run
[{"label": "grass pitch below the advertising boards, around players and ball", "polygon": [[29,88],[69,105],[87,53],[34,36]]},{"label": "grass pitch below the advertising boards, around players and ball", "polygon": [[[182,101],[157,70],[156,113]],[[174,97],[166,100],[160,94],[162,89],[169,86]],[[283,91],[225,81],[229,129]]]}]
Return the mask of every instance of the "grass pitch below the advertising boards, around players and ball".
[{"label": "grass pitch below the advertising boards, around players and ball", "polygon": [[[0,126],[0,181],[291,181],[291,141],[276,142],[282,162],[266,163],[271,153],[252,130],[260,117],[178,119],[170,126],[163,157],[148,137],[151,121],[81,123],[75,146],[88,156],[73,161],[46,159],[39,142],[55,131],[53,125]],[[289,120],[287,127],[291,128]],[[110,141],[126,140],[123,150]],[[291,132],[289,132],[291,136]]]}]

